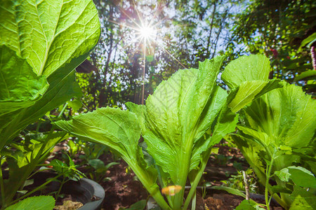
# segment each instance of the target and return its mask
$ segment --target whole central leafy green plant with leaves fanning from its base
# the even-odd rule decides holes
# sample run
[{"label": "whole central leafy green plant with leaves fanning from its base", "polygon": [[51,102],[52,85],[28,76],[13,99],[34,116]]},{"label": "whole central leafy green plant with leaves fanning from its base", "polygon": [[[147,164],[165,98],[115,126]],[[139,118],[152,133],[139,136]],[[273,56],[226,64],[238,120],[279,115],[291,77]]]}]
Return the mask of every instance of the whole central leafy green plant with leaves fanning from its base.
[{"label": "whole central leafy green plant with leaves fanning from its base", "polygon": [[[235,112],[261,94],[281,87],[278,80],[268,80],[270,66],[265,68],[264,56],[249,59],[252,63],[246,68],[226,66],[225,71],[233,69],[237,76],[247,79],[240,80],[224,71],[223,78],[237,84],[230,94],[216,85],[223,62],[223,57],[216,57],[200,62],[199,69],[174,73],[147,98],[145,106],[127,103],[129,111],[97,109],[55,125],[119,153],[162,209],[187,209],[195,197],[211,147],[235,131]],[[267,78],[263,78],[263,73]],[[140,134],[144,139],[141,144]],[[191,189],[183,202],[187,181]],[[165,200],[160,190],[166,188],[171,191],[162,191],[166,192]]]}]

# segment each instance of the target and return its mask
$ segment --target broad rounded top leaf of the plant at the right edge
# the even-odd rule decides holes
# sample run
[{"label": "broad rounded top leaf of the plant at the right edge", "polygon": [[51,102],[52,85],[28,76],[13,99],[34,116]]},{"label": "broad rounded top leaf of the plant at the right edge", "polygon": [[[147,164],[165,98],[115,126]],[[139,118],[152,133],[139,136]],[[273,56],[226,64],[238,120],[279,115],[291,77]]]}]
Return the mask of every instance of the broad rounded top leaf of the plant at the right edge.
[{"label": "broad rounded top leaf of the plant at the right edge", "polygon": [[245,126],[268,134],[275,146],[308,146],[315,134],[316,102],[296,85],[268,92],[244,113]]}]

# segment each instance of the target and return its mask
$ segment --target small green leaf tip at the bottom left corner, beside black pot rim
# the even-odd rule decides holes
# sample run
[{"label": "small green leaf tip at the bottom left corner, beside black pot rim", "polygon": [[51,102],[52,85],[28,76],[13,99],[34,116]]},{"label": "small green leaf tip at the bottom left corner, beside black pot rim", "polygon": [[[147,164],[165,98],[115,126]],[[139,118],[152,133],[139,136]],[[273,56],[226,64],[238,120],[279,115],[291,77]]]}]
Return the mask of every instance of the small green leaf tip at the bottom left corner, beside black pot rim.
[{"label": "small green leaf tip at the bottom left corner, beside black pot rim", "polygon": [[12,206],[7,207],[6,210],[52,210],[54,207],[55,200],[52,196],[34,196],[13,204]]}]

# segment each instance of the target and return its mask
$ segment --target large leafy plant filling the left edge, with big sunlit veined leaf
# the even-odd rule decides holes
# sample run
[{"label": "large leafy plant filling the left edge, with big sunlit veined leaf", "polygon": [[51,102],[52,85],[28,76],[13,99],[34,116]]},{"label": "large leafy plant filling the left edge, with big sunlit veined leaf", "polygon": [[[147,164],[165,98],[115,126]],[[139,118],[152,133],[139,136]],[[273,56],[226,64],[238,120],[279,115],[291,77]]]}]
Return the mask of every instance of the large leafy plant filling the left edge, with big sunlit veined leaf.
[{"label": "large leafy plant filling the left edge, with big sunlit veined leaf", "polygon": [[34,152],[20,146],[12,155],[6,149],[27,125],[80,95],[74,68],[86,59],[99,36],[100,22],[91,0],[1,1],[1,165],[11,155],[18,166],[6,180],[0,170],[2,208],[12,202],[51,143],[58,141],[51,141],[55,135],[51,130]]}]

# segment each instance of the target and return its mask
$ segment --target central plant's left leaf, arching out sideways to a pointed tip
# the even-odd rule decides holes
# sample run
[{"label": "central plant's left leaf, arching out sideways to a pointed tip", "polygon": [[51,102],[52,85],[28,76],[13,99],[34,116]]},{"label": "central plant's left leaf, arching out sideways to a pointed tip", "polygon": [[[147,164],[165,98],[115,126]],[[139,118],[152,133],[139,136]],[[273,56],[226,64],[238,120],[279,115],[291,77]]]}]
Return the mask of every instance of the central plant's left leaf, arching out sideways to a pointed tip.
[{"label": "central plant's left leaf, arching out sideways to a pointed tip", "polygon": [[156,183],[157,172],[147,167],[138,146],[140,126],[134,113],[107,107],[74,116],[70,121],[60,120],[55,125],[81,139],[105,144],[117,151],[152,196],[163,200]]}]

